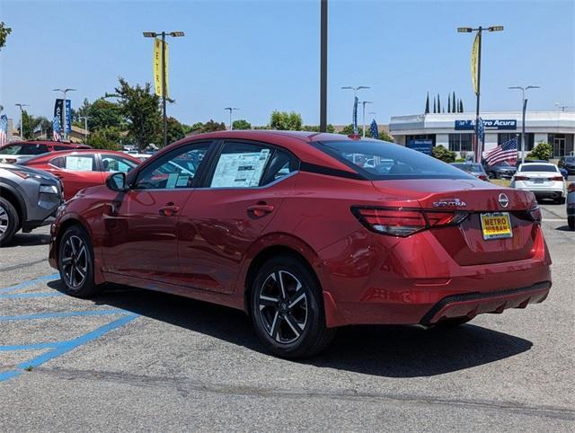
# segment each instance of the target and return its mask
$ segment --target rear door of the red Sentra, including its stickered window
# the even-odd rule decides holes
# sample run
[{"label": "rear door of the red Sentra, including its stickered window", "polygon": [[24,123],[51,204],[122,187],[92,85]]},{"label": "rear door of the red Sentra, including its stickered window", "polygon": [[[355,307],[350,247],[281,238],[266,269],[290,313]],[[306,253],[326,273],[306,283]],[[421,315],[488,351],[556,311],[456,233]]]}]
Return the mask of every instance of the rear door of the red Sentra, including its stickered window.
[{"label": "rear door of the red Sentra, including its stickered window", "polygon": [[229,141],[213,165],[208,188],[193,192],[178,222],[181,284],[231,293],[243,254],[293,190],[296,158],[273,146]]}]

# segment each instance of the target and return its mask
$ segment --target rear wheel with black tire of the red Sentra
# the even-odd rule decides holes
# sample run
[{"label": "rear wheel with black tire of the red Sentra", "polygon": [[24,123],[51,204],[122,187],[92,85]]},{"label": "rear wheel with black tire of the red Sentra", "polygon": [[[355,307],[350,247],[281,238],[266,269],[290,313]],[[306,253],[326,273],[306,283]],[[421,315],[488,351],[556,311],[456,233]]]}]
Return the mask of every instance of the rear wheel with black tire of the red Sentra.
[{"label": "rear wheel with black tire of the red Sentra", "polygon": [[258,270],[251,314],[260,340],[282,358],[312,357],[336,333],[325,325],[322,287],[305,263],[290,255],[274,257]]}]

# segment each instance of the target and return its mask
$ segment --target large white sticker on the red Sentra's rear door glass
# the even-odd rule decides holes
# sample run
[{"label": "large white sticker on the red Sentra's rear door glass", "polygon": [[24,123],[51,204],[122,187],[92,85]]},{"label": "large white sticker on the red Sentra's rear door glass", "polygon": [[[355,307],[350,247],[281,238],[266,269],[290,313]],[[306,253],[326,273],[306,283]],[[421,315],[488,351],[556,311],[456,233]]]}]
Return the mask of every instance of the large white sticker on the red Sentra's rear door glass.
[{"label": "large white sticker on the red Sentra's rear door glass", "polygon": [[260,184],[270,149],[242,154],[222,154],[217,162],[212,188],[245,188]]}]

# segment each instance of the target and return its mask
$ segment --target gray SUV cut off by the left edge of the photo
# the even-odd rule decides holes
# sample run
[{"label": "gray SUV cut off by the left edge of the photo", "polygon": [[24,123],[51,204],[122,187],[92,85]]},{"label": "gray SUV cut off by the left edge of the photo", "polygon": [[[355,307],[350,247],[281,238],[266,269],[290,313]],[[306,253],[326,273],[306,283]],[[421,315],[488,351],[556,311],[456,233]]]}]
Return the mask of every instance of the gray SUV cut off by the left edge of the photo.
[{"label": "gray SUV cut off by the left edge of the photo", "polygon": [[62,183],[33,168],[0,163],[0,247],[20,229],[29,233],[62,203]]}]

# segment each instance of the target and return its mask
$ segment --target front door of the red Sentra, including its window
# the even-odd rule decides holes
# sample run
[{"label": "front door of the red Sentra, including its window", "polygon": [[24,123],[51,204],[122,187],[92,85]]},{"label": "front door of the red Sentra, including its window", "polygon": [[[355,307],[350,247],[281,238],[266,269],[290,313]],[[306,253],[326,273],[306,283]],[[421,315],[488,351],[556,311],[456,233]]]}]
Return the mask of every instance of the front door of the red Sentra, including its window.
[{"label": "front door of the red Sentra, including its window", "polygon": [[178,278],[177,223],[210,143],[181,146],[137,173],[104,223],[104,270],[133,278]]}]

